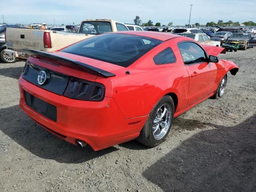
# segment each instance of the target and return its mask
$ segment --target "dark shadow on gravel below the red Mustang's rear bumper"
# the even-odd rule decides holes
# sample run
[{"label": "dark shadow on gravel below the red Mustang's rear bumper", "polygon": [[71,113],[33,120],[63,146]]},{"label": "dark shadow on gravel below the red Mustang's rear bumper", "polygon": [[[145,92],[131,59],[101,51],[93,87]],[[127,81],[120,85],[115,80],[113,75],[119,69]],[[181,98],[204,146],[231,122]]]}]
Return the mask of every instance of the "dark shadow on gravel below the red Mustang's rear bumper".
[{"label": "dark shadow on gravel below the red Mustang's rear bumper", "polygon": [[0,130],[36,156],[61,163],[81,163],[118,150],[94,152],[90,146],[70,144],[34,123],[18,105],[0,109]]}]

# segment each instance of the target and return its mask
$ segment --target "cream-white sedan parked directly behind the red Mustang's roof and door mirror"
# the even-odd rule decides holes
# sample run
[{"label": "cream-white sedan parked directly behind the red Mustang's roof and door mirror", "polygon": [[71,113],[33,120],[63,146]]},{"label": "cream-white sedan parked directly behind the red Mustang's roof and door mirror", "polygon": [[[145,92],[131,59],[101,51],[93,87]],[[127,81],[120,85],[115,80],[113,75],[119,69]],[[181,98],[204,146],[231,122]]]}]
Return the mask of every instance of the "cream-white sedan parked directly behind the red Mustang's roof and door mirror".
[{"label": "cream-white sedan parked directly behind the red Mustang's roof and door mirror", "polygon": [[178,35],[185,36],[192,38],[199,42],[200,44],[207,44],[212,46],[220,47],[220,42],[212,41],[206,34],[196,33],[196,34],[189,34],[189,33],[179,33]]}]

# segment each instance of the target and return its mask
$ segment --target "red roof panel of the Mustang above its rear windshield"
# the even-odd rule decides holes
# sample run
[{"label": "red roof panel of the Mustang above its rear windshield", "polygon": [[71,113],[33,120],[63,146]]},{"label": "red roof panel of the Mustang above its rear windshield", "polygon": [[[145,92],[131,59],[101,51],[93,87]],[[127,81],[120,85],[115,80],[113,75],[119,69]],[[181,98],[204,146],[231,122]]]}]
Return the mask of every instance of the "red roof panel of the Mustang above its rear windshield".
[{"label": "red roof panel of the Mustang above its rear windshield", "polygon": [[148,38],[154,38],[162,41],[166,41],[168,39],[181,37],[180,35],[174,35],[170,33],[162,33],[162,32],[154,32],[154,31],[119,31],[119,32],[112,32],[112,33],[121,33],[121,34],[130,34],[130,35],[138,35],[144,36]]}]

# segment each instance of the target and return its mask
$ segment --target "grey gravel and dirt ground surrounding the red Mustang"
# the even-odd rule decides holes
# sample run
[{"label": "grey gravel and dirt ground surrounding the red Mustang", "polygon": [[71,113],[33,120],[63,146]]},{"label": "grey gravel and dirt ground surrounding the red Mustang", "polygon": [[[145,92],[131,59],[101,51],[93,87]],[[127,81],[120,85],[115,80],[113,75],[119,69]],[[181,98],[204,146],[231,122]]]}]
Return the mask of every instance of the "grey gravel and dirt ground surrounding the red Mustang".
[{"label": "grey gravel and dirt ground surrounding the red Mustang", "polygon": [[225,95],[174,120],[166,141],[94,152],[57,138],[19,106],[24,62],[0,63],[0,191],[256,191],[256,48],[228,52],[240,70]]}]

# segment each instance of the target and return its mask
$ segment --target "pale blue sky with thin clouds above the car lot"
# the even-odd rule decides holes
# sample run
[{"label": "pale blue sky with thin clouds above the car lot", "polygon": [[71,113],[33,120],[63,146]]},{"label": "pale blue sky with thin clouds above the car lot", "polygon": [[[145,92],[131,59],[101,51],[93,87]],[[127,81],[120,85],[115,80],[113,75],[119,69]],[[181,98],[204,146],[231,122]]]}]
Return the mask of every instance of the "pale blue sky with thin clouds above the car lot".
[{"label": "pale blue sky with thin clouds above the car lot", "polygon": [[0,23],[79,24],[84,19],[112,19],[133,23],[136,15],[161,24],[218,20],[256,22],[256,0],[0,0]]}]

